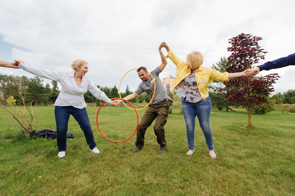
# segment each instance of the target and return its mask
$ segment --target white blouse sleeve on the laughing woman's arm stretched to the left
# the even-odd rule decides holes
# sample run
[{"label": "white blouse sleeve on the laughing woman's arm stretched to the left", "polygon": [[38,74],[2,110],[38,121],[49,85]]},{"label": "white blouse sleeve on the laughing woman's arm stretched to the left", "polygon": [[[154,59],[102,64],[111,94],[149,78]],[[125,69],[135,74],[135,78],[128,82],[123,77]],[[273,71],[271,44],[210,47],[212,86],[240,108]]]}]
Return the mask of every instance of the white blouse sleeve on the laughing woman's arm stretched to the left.
[{"label": "white blouse sleeve on the laughing woman's arm stretched to the left", "polygon": [[47,78],[54,81],[60,81],[60,77],[62,76],[63,71],[52,71],[48,69],[37,68],[29,65],[25,65],[24,63],[20,63],[19,68],[32,73],[36,76],[40,76],[42,78]]}]

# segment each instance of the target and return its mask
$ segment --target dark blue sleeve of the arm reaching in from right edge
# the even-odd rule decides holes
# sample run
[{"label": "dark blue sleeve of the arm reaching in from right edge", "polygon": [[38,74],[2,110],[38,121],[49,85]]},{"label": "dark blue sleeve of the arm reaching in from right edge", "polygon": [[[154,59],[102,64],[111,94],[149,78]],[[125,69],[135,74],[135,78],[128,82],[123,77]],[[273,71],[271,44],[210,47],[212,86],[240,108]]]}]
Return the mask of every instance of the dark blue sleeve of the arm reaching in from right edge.
[{"label": "dark blue sleeve of the arm reaching in from right edge", "polygon": [[271,70],[286,67],[289,65],[295,65],[295,53],[290,54],[289,56],[278,58],[274,61],[268,61],[263,65],[258,66],[260,71],[262,70]]}]

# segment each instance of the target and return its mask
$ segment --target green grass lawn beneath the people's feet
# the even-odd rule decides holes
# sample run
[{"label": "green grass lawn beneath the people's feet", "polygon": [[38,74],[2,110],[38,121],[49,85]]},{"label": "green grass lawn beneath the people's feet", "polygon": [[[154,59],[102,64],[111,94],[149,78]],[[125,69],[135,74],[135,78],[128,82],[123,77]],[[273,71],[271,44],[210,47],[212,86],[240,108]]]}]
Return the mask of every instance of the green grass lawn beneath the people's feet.
[{"label": "green grass lawn beneath the people's feet", "polygon": [[[35,130],[55,130],[54,106],[33,107]],[[217,159],[207,151],[196,119],[195,153],[187,157],[183,115],[178,109],[165,125],[167,149],[158,152],[153,125],[145,146],[132,153],[136,137],[124,143],[106,140],[96,126],[97,107],[87,107],[100,154],[89,151],[78,123],[70,118],[64,158],[55,140],[24,139],[6,113],[0,115],[0,195],[294,195],[295,113],[252,114],[214,111],[210,124]],[[138,111],[139,118],[145,110]],[[127,108],[102,108],[99,125],[113,140],[135,130]],[[7,133],[11,132],[11,133]]]}]

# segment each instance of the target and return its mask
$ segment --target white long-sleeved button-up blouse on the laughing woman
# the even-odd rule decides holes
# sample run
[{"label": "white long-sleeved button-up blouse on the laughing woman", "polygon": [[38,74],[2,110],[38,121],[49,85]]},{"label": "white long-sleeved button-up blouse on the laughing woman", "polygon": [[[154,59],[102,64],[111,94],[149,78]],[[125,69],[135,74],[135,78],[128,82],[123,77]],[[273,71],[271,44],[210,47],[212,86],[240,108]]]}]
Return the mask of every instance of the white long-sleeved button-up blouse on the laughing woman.
[{"label": "white long-sleeved button-up blouse on the laughing woman", "polygon": [[95,84],[87,76],[83,76],[82,83],[77,86],[74,78],[75,71],[52,71],[28,66],[24,63],[20,63],[19,68],[36,76],[60,82],[62,89],[60,90],[54,105],[73,106],[79,109],[85,108],[86,102],[83,94],[87,91],[90,91],[94,97],[105,101],[106,103],[111,102],[106,94],[97,88],[97,86],[95,86]]}]

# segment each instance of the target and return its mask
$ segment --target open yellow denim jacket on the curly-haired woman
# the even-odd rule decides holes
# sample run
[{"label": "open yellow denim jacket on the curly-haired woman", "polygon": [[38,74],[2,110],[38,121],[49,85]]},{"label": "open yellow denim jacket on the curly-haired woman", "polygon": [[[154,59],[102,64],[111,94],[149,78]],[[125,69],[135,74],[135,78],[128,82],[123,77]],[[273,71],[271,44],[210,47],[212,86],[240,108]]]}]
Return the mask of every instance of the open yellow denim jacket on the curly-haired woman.
[{"label": "open yellow denim jacket on the curly-haired woman", "polygon": [[[176,65],[176,76],[173,85],[174,89],[184,78],[186,78],[191,73],[191,70],[188,68],[186,62],[181,61],[172,52],[172,50],[168,52],[166,58],[170,58],[172,62]],[[228,72],[221,73],[220,71],[216,71],[216,69],[199,66],[199,68],[196,70],[196,82],[199,88],[199,93],[203,99],[209,96],[208,88],[209,83],[212,80],[227,82],[229,81]]]}]

